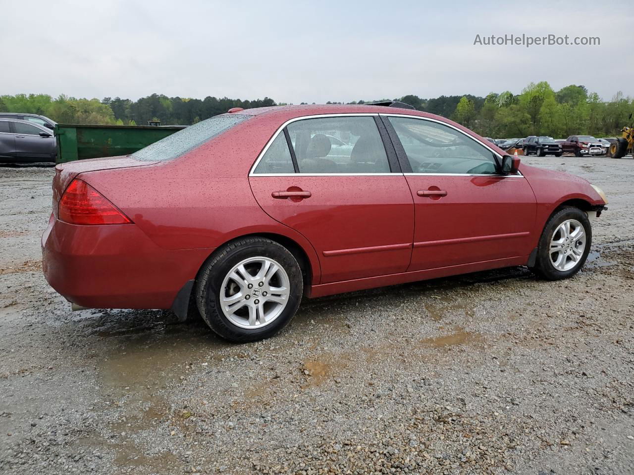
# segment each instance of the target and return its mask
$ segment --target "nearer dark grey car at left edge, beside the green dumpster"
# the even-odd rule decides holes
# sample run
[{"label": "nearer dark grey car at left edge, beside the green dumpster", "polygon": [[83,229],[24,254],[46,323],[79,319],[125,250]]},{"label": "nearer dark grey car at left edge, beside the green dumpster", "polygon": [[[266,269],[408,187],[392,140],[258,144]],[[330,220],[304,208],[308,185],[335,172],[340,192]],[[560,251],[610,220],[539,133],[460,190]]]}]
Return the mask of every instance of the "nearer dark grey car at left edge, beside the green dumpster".
[{"label": "nearer dark grey car at left edge, beside the green dumpster", "polygon": [[0,117],[0,162],[55,162],[53,131],[41,125]]}]

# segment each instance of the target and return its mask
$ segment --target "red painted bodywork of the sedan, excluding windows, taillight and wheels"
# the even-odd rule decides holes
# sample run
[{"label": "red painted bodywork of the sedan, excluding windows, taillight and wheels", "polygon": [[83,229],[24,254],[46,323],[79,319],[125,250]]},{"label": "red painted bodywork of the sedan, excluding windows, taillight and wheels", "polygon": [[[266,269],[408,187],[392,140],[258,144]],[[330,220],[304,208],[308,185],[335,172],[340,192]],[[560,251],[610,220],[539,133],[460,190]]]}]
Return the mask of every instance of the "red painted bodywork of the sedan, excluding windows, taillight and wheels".
[{"label": "red painted bodywork of the sedan, excluding windows, taillight and wheels", "polygon": [[[53,216],[42,236],[44,274],[85,307],[169,308],[224,243],[248,234],[293,241],[306,255],[312,296],[527,262],[553,210],[602,204],[583,179],[520,165],[524,177],[251,177],[286,120],[323,113],[427,113],[378,106],[292,106],[253,115],[169,162],[127,157],[56,167]],[[501,155],[505,152],[496,149]],[[133,224],[71,225],[57,203],[74,177]],[[418,191],[446,195],[418,196]],[[277,196],[276,192],[301,192]],[[310,192],[307,196],[304,192]]]}]

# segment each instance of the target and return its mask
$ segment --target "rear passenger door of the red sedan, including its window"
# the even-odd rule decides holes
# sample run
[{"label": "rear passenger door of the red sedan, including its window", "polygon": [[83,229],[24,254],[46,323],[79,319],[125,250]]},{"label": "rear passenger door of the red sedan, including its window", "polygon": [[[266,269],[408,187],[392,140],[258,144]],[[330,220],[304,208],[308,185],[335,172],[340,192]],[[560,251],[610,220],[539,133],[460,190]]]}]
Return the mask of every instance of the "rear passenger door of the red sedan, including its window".
[{"label": "rear passenger door of the red sedan, including its window", "polygon": [[249,182],[266,213],[313,244],[321,283],[407,269],[413,200],[378,115],[290,121]]}]

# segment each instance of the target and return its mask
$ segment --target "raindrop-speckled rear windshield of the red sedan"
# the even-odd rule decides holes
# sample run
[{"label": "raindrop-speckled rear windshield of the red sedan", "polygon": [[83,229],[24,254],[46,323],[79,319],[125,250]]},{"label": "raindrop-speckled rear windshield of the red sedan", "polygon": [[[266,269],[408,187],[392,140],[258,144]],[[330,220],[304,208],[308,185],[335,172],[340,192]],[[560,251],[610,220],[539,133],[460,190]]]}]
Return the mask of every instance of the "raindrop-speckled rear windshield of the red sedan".
[{"label": "raindrop-speckled rear windshield of the red sedan", "polygon": [[223,114],[208,118],[186,129],[179,130],[171,136],[160,139],[131,155],[136,160],[147,162],[162,162],[178,158],[191,149],[197,148],[209,139],[219,136],[240,122],[247,120],[250,115]]}]

